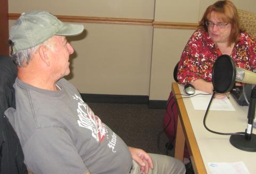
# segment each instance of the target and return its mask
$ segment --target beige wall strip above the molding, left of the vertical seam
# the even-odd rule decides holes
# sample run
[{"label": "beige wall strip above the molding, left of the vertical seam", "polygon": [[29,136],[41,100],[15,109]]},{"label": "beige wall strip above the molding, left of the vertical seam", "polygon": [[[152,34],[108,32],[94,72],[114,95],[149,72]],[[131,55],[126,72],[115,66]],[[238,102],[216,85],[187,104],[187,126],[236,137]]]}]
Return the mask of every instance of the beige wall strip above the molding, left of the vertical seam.
[{"label": "beige wall strip above the molding, left of the vertical seam", "polygon": [[9,0],[9,13],[46,10],[59,15],[153,19],[154,0]]}]

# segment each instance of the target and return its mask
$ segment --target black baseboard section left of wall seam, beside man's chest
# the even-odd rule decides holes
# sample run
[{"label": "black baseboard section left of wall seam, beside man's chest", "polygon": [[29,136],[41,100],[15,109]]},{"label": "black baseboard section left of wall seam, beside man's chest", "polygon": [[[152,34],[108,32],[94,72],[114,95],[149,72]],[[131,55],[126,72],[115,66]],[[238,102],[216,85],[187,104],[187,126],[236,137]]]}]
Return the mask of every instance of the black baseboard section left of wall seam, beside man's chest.
[{"label": "black baseboard section left of wall seam, beside man's chest", "polygon": [[146,95],[81,94],[84,102],[148,104]]}]

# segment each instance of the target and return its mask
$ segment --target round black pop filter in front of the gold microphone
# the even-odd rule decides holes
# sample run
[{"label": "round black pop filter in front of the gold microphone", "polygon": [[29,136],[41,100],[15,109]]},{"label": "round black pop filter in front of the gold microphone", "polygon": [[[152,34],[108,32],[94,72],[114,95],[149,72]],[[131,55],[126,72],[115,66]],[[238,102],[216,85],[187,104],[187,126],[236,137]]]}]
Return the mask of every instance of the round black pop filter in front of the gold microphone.
[{"label": "round black pop filter in front of the gold microphone", "polygon": [[229,55],[223,54],[217,58],[213,64],[212,84],[217,93],[229,92],[234,84],[236,77],[236,67]]}]

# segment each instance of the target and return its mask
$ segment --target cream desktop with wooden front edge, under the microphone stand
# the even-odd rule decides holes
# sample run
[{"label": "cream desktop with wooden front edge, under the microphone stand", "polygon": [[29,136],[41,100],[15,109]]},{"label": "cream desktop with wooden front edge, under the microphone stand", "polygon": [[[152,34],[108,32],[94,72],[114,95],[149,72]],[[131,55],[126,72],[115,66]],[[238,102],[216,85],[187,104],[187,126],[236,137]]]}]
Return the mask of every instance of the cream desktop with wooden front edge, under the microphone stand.
[{"label": "cream desktop with wooden front edge, under the microphone stand", "polygon": [[[174,94],[185,94],[183,86],[175,82],[172,84],[172,91]],[[178,95],[177,98],[179,97],[181,96]],[[230,102],[236,111],[209,111],[206,119],[208,128],[219,132],[245,131],[248,106],[239,106],[232,97]],[[205,110],[194,110],[190,98],[178,100],[178,107],[180,122],[196,172],[211,173],[208,162],[243,161],[250,173],[255,173],[255,152],[238,150],[229,143],[230,136],[207,131],[203,125]]]}]

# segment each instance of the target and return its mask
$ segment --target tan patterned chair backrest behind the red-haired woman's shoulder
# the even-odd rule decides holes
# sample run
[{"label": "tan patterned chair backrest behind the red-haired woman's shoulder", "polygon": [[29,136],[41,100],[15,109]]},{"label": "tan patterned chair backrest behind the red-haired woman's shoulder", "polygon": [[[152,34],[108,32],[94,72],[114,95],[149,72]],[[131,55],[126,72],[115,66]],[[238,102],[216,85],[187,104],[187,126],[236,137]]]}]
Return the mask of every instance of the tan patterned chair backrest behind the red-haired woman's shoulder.
[{"label": "tan patterned chair backrest behind the red-haired woman's shoulder", "polygon": [[246,10],[238,9],[238,15],[241,26],[249,35],[251,35],[253,38],[256,38],[256,14]]}]

